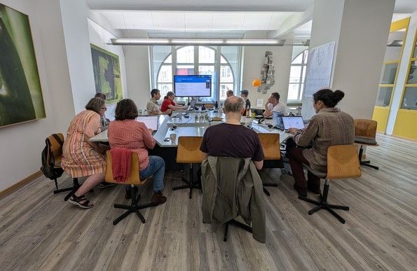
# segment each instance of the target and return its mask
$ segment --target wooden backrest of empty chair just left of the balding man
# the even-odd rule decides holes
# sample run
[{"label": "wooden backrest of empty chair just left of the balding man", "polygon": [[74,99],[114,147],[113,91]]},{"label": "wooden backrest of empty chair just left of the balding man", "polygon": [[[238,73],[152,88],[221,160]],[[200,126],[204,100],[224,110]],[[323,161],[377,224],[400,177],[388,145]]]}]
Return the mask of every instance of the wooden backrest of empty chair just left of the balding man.
[{"label": "wooden backrest of empty chair just left of the balding man", "polygon": [[177,162],[193,164],[203,162],[200,146],[203,137],[178,137]]}]

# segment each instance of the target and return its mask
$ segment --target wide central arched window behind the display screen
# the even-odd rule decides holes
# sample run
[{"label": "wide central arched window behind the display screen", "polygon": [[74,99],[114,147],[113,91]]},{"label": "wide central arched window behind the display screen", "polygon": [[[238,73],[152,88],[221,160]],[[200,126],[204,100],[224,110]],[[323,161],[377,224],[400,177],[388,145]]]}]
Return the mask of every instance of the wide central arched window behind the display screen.
[{"label": "wide central arched window behind the display screen", "polygon": [[[230,47],[233,46],[228,46],[222,54],[220,46],[152,46],[153,88],[158,88],[164,97],[168,91],[174,91],[173,75],[210,74],[212,97],[200,97],[200,101],[223,101],[227,90],[238,89],[240,74],[240,48]],[[231,57],[234,64],[225,55]]]}]

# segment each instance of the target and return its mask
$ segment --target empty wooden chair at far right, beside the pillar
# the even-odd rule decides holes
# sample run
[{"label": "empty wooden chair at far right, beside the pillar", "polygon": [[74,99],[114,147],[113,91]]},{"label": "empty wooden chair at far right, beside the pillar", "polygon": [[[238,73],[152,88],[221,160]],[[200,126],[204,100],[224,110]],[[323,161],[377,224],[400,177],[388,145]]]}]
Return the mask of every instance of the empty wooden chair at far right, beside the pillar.
[{"label": "empty wooden chair at far right, beside the pillar", "polygon": [[376,165],[371,165],[369,160],[362,161],[363,146],[379,146],[376,143],[376,127],[378,123],[376,120],[367,120],[358,118],[355,120],[355,144],[360,145],[359,149],[359,161],[360,165],[372,167],[376,170],[379,169]]}]

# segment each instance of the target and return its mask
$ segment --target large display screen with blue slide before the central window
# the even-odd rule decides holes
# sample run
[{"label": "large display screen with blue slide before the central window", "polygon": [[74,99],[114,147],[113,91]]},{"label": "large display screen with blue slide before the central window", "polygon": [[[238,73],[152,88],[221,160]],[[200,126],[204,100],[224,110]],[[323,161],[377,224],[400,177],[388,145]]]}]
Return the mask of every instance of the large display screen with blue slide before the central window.
[{"label": "large display screen with blue slide before the central window", "polygon": [[178,97],[212,96],[211,75],[175,75],[174,92]]}]

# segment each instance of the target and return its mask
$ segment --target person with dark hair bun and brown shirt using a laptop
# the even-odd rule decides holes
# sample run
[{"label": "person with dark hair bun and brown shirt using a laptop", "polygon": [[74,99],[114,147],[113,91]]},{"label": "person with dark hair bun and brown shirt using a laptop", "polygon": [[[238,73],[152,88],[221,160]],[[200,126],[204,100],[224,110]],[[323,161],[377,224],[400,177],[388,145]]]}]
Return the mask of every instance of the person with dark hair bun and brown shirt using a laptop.
[{"label": "person with dark hair bun and brown shirt using a laptop", "polygon": [[[323,89],[313,95],[314,110],[307,127],[302,130],[290,128],[296,146],[311,148],[289,148],[289,165],[294,175],[294,188],[299,195],[306,196],[307,190],[320,194],[320,178],[308,171],[307,181],[303,164],[319,172],[327,172],[327,148],[334,145],[351,145],[355,136],[353,118],[334,107],[345,94],[341,90]],[[295,145],[294,144],[294,145]],[[291,141],[288,142],[291,145]]]}]

